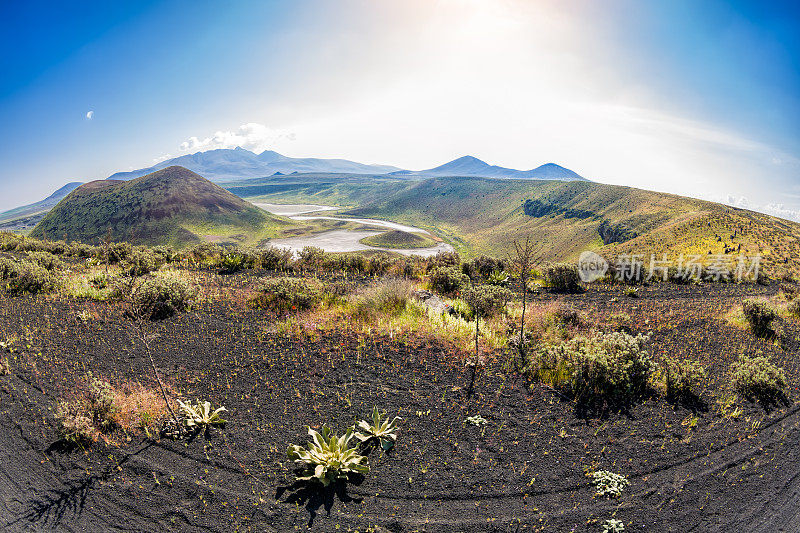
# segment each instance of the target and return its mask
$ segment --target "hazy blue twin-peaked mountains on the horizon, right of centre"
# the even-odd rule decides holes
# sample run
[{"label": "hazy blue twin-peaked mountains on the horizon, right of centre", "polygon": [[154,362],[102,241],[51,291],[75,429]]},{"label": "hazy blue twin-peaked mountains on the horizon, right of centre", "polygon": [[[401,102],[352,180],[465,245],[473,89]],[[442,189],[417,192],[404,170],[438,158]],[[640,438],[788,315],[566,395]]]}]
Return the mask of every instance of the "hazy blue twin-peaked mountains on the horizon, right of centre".
[{"label": "hazy blue twin-peaked mountains on the horizon, right of centre", "polygon": [[498,167],[481,161],[477,157],[465,155],[454,159],[444,165],[429,168],[428,170],[411,171],[399,170],[392,172],[393,176],[420,176],[420,177],[446,177],[467,176],[476,178],[501,178],[501,179],[528,179],[528,180],[561,180],[561,181],[586,181],[586,178],[576,174],[568,168],[555,163],[547,163],[533,170],[515,170],[513,168]]}]

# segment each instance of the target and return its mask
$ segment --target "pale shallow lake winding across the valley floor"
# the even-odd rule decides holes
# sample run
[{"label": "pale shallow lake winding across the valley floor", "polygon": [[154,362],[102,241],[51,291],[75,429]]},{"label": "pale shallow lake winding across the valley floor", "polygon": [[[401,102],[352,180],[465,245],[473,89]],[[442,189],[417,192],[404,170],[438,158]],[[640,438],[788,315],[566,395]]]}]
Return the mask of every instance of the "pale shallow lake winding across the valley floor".
[{"label": "pale shallow lake winding across the valley floor", "polygon": [[387,229],[406,231],[409,233],[423,233],[425,235],[430,235],[430,232],[425,231],[424,229],[421,228],[415,228],[414,226],[406,226],[404,224],[398,224],[396,222],[389,222],[386,220],[376,220],[373,218],[344,218],[344,217],[331,217],[323,215],[305,214],[305,213],[317,213],[320,211],[329,211],[337,209],[336,207],[314,205],[314,204],[256,203],[254,205],[260,207],[261,209],[264,209],[265,211],[269,211],[272,214],[286,216],[294,220],[319,220],[319,219],[343,220],[346,222],[357,222],[359,224],[364,224],[365,226],[375,226],[376,228],[379,228],[376,231],[337,229],[305,237],[289,237],[287,239],[272,239],[269,241],[269,244],[272,246],[276,246],[278,248],[286,248],[294,253],[299,252],[306,246],[316,246],[317,248],[322,248],[326,252],[358,252],[362,250],[385,250],[385,251],[397,252],[403,255],[420,255],[423,257],[436,255],[439,252],[453,251],[453,247],[444,242],[441,242],[436,246],[431,246],[428,248],[409,248],[402,250],[395,248],[379,248],[376,246],[367,246],[366,244],[362,244],[358,241],[360,241],[364,237],[370,237],[372,235],[378,235],[380,233],[383,233]]}]

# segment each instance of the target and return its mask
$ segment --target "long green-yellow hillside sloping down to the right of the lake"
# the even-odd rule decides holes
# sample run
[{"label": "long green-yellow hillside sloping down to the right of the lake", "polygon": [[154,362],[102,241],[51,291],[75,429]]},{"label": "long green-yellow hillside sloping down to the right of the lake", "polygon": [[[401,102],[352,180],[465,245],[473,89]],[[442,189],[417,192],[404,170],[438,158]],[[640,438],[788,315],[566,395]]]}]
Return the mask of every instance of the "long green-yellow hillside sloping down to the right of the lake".
[{"label": "long green-yellow hillside sloping down to the right of the lake", "polygon": [[[349,176],[269,178],[258,198],[357,206],[345,215],[427,229],[467,256],[503,256],[531,236],[539,261],[593,249],[709,256],[761,254],[770,270],[800,270],[800,224],[713,202],[594,182]],[[233,189],[232,189],[233,190]],[[245,192],[240,190],[237,192]],[[740,247],[741,245],[741,247]]]}]

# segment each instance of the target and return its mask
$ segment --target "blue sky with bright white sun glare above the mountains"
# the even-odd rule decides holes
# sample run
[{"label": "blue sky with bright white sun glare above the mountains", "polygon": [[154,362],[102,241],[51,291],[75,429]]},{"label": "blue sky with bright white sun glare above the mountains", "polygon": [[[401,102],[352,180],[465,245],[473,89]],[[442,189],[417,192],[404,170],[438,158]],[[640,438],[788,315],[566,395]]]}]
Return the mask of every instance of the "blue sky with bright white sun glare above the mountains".
[{"label": "blue sky with bright white sun glare above the mountains", "polygon": [[553,161],[800,213],[791,2],[75,4],[0,7],[0,209],[241,145],[412,169]]}]

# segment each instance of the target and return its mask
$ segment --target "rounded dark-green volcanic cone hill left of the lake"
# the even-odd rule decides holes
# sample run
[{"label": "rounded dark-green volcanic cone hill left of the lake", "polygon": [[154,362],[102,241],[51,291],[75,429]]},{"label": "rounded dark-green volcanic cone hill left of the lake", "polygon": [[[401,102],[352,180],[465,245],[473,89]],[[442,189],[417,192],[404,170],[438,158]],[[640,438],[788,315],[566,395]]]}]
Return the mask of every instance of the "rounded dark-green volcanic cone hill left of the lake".
[{"label": "rounded dark-green volcanic cone hill left of the lake", "polygon": [[98,180],[61,200],[35,238],[182,246],[203,240],[251,243],[297,223],[270,215],[183,167],[131,181]]}]

